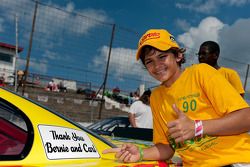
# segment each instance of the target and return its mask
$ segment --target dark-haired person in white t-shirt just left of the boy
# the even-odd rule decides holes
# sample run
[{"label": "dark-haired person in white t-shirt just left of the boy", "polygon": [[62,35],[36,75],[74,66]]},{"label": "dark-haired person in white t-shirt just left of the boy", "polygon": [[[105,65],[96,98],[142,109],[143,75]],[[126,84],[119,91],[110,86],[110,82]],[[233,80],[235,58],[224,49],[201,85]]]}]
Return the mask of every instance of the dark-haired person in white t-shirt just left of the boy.
[{"label": "dark-haired person in white t-shirt just left of the boy", "polygon": [[153,128],[153,118],[149,106],[151,91],[145,91],[139,100],[135,101],[129,109],[129,122],[134,128]]}]

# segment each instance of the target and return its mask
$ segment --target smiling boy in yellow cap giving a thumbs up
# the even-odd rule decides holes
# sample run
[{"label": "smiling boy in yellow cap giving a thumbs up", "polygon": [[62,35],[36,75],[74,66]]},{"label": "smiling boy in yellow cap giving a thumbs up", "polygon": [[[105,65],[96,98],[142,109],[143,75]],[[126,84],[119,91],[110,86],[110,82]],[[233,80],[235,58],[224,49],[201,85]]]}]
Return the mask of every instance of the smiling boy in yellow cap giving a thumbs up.
[{"label": "smiling boy in yellow cap giving a thumbs up", "polygon": [[154,146],[133,144],[104,150],[122,162],[167,160],[178,152],[184,166],[250,163],[250,108],[207,64],[183,70],[184,56],[166,30],[147,31],[136,59],[162,84],[150,97]]}]

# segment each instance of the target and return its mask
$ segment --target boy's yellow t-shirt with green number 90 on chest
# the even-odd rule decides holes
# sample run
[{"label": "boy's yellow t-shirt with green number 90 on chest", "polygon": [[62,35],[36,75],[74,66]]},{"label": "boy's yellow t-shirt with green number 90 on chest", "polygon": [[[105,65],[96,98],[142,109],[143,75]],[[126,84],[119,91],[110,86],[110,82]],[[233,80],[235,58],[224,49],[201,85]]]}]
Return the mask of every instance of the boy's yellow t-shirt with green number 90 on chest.
[{"label": "boy's yellow t-shirt with green number 90 on chest", "polygon": [[250,163],[250,135],[187,140],[176,144],[168,138],[167,122],[177,119],[172,104],[193,120],[207,120],[249,107],[240,94],[207,64],[186,68],[171,87],[155,88],[150,97],[154,128],[153,142],[171,144],[182,157],[184,166],[223,166]]}]

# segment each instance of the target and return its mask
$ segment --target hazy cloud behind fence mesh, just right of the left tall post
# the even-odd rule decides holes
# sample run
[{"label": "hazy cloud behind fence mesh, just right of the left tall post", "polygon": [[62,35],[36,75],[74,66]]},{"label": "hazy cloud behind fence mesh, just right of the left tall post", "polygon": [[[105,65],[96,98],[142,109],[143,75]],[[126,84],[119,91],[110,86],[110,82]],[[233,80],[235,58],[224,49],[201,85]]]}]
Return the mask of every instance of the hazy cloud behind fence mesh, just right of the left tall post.
[{"label": "hazy cloud behind fence mesh, just right of the left tall post", "polygon": [[[106,22],[108,16],[102,10],[85,9],[76,10],[75,5],[70,2],[65,7],[53,5],[56,9],[49,6],[39,6],[36,22],[36,31],[50,37],[57,32],[86,34],[88,30],[98,26],[100,22]],[[59,10],[63,9],[63,10]],[[66,13],[75,12],[77,15]],[[70,27],[70,28],[69,28]]]}]

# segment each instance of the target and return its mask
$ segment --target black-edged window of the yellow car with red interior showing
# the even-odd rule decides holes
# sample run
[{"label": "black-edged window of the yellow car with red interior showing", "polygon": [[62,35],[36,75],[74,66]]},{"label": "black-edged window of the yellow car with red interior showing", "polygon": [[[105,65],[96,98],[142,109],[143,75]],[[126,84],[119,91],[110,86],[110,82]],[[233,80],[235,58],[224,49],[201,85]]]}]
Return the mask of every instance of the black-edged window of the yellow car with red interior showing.
[{"label": "black-edged window of the yellow car with red interior showing", "polygon": [[0,160],[23,159],[33,142],[30,121],[15,106],[0,98]]}]

